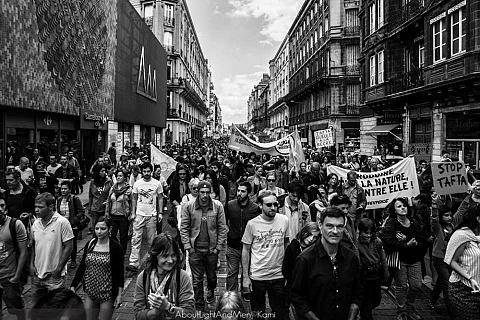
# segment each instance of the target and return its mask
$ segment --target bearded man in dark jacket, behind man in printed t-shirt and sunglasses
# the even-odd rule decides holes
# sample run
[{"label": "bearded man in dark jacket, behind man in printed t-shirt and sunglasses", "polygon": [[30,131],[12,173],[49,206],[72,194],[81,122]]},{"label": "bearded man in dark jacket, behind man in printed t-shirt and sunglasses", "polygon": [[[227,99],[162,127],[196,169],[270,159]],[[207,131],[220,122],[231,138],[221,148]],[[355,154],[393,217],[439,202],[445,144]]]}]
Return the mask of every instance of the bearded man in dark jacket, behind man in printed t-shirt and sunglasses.
[{"label": "bearded man in dark jacket, behind man in printed t-shirt and sunglasses", "polygon": [[250,183],[240,183],[237,188],[237,199],[229,201],[225,206],[225,218],[228,226],[227,291],[238,291],[238,270],[242,259],[242,235],[247,222],[262,213],[260,208],[250,201],[248,197],[250,192],[252,192]]}]

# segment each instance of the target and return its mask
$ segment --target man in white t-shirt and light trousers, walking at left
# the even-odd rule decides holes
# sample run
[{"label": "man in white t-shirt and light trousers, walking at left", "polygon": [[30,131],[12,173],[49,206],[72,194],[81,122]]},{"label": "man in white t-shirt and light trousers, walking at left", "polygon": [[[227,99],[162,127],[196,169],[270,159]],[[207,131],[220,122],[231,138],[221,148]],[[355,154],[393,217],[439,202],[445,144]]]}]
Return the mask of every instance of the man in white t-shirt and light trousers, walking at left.
[{"label": "man in white t-shirt and light trousers, walking at left", "polygon": [[132,252],[128,271],[137,272],[139,267],[140,246],[144,229],[147,232],[148,245],[152,244],[157,233],[157,215],[162,218],[163,188],[160,181],[152,178],[153,166],[146,162],[141,165],[142,179],[137,180],[132,190],[133,220]]}]

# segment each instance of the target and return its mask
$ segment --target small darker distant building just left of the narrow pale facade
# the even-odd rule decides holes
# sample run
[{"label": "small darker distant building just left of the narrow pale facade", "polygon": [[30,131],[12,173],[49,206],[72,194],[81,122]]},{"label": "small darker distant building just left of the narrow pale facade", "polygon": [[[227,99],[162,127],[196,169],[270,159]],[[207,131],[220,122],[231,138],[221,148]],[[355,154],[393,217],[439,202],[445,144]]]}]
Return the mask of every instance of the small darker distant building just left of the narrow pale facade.
[{"label": "small darker distant building just left of the narrow pale facade", "polygon": [[248,97],[248,128],[255,133],[263,132],[268,128],[267,108],[270,103],[270,76],[263,74],[260,82],[254,86]]}]

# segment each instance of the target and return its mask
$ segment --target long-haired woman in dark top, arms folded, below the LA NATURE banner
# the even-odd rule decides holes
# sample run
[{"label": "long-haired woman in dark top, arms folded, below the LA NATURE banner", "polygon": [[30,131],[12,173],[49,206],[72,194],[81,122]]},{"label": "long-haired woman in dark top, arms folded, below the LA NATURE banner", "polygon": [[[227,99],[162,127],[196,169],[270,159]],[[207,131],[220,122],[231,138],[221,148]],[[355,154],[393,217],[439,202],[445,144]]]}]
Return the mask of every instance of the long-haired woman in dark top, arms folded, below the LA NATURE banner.
[{"label": "long-haired woman in dark top, arms folded, below the LA NATURE banner", "polygon": [[387,255],[398,253],[399,269],[394,269],[397,318],[421,319],[413,303],[422,288],[420,261],[425,255],[427,239],[413,219],[412,207],[406,199],[395,198],[388,208],[389,217],[381,239]]}]

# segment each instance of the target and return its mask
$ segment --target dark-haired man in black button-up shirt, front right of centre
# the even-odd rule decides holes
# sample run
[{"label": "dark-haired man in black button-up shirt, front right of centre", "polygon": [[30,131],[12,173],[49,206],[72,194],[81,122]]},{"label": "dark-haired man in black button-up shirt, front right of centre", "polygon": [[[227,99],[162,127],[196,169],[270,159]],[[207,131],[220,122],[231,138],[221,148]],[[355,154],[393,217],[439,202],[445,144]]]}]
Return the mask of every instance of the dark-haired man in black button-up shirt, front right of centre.
[{"label": "dark-haired man in black button-up shirt, front right of centre", "polygon": [[362,302],[360,262],[340,242],[345,212],[329,207],[318,221],[322,237],[298,258],[292,303],[300,319],[353,320]]}]

